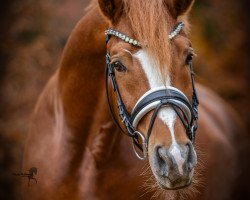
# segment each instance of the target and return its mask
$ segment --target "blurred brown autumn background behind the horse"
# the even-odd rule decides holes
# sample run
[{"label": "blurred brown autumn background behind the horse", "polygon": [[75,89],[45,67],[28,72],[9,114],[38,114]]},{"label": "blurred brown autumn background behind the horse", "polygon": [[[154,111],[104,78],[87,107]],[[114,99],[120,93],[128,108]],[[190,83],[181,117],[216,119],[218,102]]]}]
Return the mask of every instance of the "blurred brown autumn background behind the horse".
[{"label": "blurred brown autumn background behind the horse", "polygon": [[[30,114],[88,2],[0,2],[0,199],[20,197],[20,178],[11,174],[21,170]],[[247,130],[249,4],[248,0],[196,0],[190,14],[190,36],[198,55],[194,64],[197,81],[234,107]]]}]

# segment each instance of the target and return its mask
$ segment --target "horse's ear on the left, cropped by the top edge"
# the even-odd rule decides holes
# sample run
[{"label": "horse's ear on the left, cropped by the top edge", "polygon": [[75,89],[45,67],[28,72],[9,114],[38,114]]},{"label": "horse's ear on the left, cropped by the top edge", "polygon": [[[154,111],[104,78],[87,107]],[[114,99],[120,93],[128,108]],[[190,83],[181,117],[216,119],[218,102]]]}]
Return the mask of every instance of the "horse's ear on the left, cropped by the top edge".
[{"label": "horse's ear on the left, cropped by the top edge", "polygon": [[116,21],[121,11],[121,0],[98,0],[102,13],[112,22]]}]

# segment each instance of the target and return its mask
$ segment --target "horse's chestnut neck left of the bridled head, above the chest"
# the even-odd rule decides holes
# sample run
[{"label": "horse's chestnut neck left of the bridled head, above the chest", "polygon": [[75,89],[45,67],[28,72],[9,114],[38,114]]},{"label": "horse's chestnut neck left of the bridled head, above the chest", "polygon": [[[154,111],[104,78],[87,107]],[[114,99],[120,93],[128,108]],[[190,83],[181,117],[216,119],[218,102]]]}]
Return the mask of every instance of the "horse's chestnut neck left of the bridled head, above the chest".
[{"label": "horse's chestnut neck left of the bridled head, above the chest", "polygon": [[104,31],[108,25],[98,8],[90,9],[73,30],[59,68],[59,95],[76,152],[75,167],[84,147],[91,146],[97,159],[105,158],[98,148],[112,148],[107,138],[116,131],[105,95]]}]

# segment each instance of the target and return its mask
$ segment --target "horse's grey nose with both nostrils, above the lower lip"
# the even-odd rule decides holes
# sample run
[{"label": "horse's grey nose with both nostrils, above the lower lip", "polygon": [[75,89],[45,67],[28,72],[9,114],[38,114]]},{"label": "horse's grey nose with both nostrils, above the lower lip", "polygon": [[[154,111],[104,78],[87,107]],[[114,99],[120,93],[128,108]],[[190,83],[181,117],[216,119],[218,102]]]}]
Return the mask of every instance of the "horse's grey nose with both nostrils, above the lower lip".
[{"label": "horse's grey nose with both nostrils, above the lower lip", "polygon": [[156,173],[175,182],[189,179],[190,173],[197,162],[197,156],[191,142],[187,144],[172,144],[169,148],[156,147]]}]

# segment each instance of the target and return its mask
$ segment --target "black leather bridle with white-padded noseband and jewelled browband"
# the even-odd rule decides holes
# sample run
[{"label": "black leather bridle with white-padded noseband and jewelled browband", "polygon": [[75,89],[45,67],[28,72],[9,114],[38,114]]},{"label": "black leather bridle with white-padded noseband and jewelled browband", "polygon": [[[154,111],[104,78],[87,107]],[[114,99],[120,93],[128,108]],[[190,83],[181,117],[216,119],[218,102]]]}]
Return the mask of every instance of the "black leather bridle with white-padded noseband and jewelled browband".
[{"label": "black leather bridle with white-padded noseband and jewelled browband", "polygon": [[[173,31],[169,34],[169,39],[174,38],[181,29],[184,24],[179,22]],[[105,31],[106,35],[106,43],[108,43],[111,36],[115,36],[124,42],[127,42],[131,45],[141,47],[141,44],[132,38],[120,33],[116,30],[109,28]],[[122,123],[125,125],[127,130],[127,135],[132,138],[133,149],[135,151],[136,156],[144,160],[147,158],[147,146],[149,137],[152,132],[152,128],[157,117],[159,110],[162,107],[170,106],[176,112],[177,116],[180,118],[183,126],[186,129],[186,134],[188,138],[194,142],[195,132],[198,128],[198,104],[199,100],[197,97],[195,84],[194,84],[194,72],[192,67],[192,62],[189,63],[190,73],[191,73],[191,83],[192,83],[192,101],[189,102],[188,98],[183,94],[179,89],[171,86],[164,86],[151,89],[147,91],[135,104],[132,113],[129,114],[126,106],[123,103],[116,78],[114,73],[114,64],[110,62],[110,54],[107,51],[106,53],[106,94],[108,99],[108,104],[110,108],[111,115],[116,125],[121,129],[118,119],[114,114],[114,110],[111,107],[110,99],[109,99],[109,90],[108,90],[108,79],[110,78],[113,92],[115,92],[117,97],[117,106],[119,110],[119,116]],[[150,119],[150,123],[148,126],[146,138],[142,133],[140,133],[136,128],[140,120],[150,111],[153,110],[152,117]],[[140,144],[141,143],[141,144]],[[143,155],[139,155],[136,150],[136,147],[139,148]]]}]

